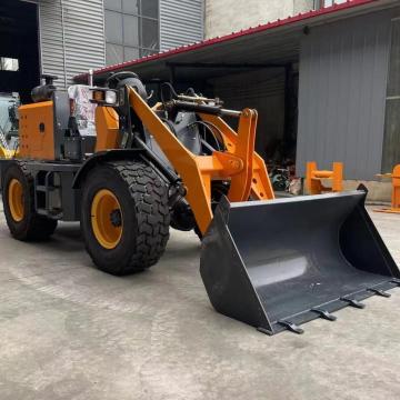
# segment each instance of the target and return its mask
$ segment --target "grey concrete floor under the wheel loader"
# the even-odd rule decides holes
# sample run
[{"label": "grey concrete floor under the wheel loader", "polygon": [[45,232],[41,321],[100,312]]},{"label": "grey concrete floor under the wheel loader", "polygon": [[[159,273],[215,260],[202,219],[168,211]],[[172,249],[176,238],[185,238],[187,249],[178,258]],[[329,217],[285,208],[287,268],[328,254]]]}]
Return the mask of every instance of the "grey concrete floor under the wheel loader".
[{"label": "grey concrete floor under the wheel loader", "polygon": [[[400,216],[372,217],[400,262]],[[192,233],[128,278],[92,267],[77,224],[21,243],[1,213],[0,249],[1,400],[400,398],[400,290],[268,337],[212,310]]]}]

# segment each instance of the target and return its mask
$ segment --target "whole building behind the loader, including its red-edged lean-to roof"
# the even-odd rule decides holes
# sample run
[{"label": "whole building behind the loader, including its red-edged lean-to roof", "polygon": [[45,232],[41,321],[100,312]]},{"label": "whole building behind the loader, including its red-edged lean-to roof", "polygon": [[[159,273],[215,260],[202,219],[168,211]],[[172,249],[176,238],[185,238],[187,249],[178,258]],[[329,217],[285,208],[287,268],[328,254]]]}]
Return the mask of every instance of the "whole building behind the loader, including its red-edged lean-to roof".
[{"label": "whole building behind the loader, including its red-edged lean-to roof", "polygon": [[400,162],[399,21],[398,0],[2,0],[0,92],[132,70],[258,109],[266,161],[372,181]]}]

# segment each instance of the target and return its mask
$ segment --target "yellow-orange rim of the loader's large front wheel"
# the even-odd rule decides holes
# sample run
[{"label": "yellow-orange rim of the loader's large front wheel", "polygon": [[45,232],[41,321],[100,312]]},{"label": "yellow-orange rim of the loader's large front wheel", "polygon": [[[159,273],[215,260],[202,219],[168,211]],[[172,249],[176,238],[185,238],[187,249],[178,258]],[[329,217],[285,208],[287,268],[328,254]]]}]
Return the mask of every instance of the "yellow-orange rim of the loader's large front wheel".
[{"label": "yellow-orange rim of the loader's large front wheel", "polygon": [[99,190],[91,204],[91,226],[104,249],[114,249],[122,237],[122,211],[117,197],[108,189]]}]

